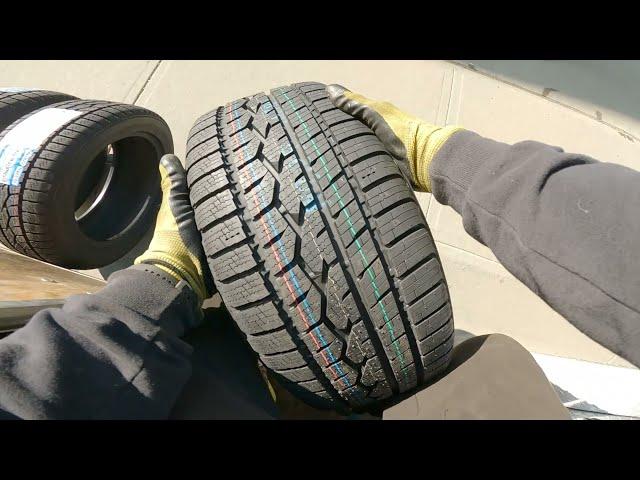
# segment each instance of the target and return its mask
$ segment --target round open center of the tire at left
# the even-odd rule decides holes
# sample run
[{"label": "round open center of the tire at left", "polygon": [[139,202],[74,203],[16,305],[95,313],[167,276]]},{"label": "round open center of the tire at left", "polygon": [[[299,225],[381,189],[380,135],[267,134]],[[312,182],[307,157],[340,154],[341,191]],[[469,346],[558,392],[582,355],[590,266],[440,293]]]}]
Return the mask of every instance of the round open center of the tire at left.
[{"label": "round open center of the tire at left", "polygon": [[160,152],[144,137],[107,145],[88,165],[74,200],[80,230],[98,241],[123,234],[159,191]]}]

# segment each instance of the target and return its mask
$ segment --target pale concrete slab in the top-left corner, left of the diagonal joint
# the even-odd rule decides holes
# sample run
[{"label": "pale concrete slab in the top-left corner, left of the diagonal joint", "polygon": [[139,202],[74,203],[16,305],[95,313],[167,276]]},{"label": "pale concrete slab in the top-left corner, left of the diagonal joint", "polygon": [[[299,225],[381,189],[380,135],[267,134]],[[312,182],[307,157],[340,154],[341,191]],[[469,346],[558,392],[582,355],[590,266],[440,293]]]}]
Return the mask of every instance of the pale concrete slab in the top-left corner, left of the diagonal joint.
[{"label": "pale concrete slab in the top-left corner, left of the diagonal joint", "polygon": [[133,103],[157,64],[157,60],[3,61],[0,86],[34,87],[78,98]]}]

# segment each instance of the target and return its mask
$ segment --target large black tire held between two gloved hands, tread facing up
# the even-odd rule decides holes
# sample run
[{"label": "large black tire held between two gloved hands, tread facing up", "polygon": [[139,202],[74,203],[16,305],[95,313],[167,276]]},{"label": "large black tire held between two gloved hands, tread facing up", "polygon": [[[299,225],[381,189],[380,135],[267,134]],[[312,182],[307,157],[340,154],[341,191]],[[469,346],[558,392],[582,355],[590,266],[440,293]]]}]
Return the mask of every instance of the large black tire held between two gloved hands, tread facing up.
[{"label": "large black tire held between two gloved hands, tread facing up", "polygon": [[451,305],[424,215],[379,140],[324,85],[202,116],[186,164],[222,299],[293,393],[377,410],[447,366]]}]

